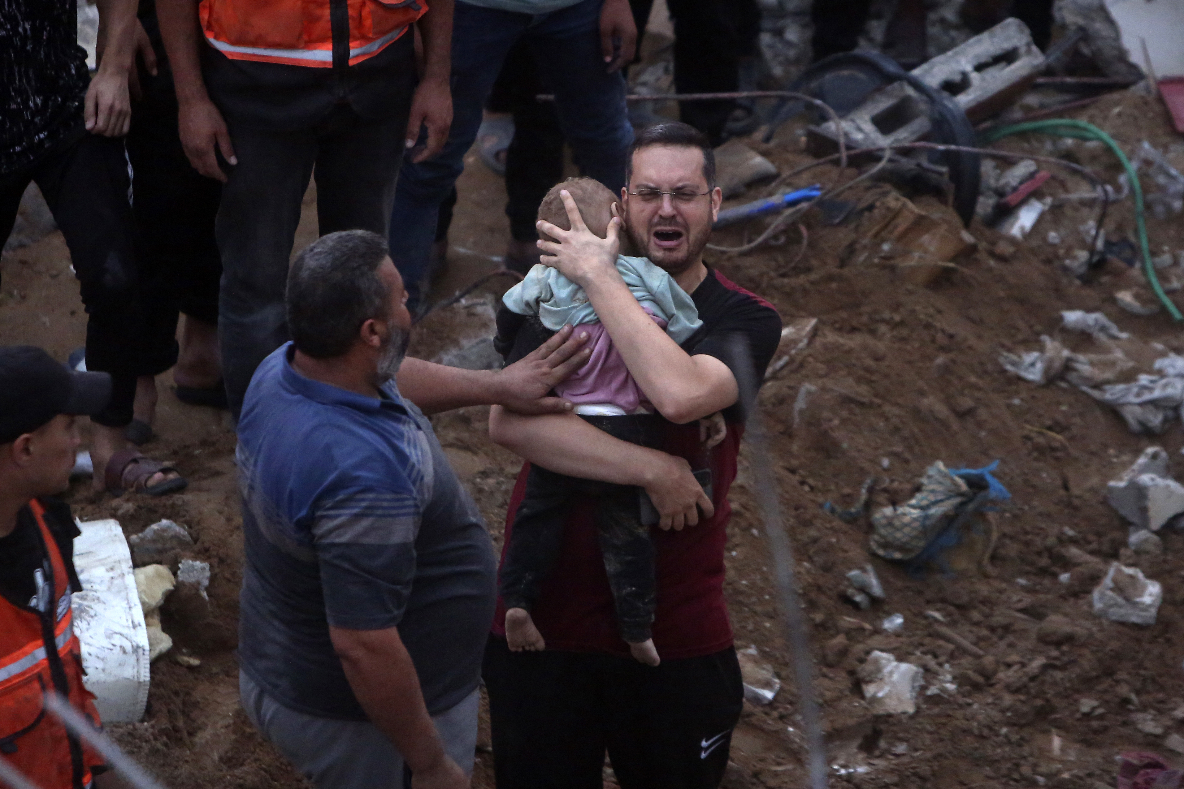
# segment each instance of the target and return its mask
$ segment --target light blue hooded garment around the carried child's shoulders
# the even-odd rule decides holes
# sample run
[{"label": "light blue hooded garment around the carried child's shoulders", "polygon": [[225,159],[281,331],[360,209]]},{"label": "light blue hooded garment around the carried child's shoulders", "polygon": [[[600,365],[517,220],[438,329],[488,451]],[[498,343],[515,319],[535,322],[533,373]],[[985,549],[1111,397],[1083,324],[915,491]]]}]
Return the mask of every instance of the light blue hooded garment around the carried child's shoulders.
[{"label": "light blue hooded garment around the carried child's shoulders", "polygon": [[[674,277],[648,258],[619,256],[617,271],[633,298],[667,322],[667,334],[676,343],[682,344],[703,325],[690,296],[678,287]],[[541,263],[530,269],[522,282],[506,291],[502,303],[510,312],[538,315],[542,325],[552,331],[559,331],[567,323],[578,326],[600,321],[583,287],[561,274],[559,269]]]}]

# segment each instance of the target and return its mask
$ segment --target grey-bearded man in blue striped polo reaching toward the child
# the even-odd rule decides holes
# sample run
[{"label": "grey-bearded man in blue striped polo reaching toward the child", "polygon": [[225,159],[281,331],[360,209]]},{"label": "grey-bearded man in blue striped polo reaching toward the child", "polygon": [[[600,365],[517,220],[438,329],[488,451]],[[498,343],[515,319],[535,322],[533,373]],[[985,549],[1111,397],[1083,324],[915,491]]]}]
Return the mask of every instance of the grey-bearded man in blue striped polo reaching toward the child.
[{"label": "grey-bearded man in blue striped polo reaching toward the child", "polygon": [[565,332],[500,373],[403,364],[405,302],[386,239],[309,246],[238,423],[243,706],[322,788],[469,785],[495,558],[424,410],[561,408],[586,358]]}]

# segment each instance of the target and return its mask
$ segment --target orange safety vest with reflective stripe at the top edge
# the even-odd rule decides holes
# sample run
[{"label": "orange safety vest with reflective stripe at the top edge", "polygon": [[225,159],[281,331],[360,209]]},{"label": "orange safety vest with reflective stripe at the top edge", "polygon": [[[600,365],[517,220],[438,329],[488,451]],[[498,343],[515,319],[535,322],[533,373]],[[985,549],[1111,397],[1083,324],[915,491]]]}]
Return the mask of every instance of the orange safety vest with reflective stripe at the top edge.
[{"label": "orange safety vest with reflective stripe at the top edge", "polygon": [[355,65],[406,33],[426,11],[426,0],[201,0],[198,13],[206,40],[227,58],[327,69],[335,65],[335,40],[337,65],[347,38],[348,64]]}]

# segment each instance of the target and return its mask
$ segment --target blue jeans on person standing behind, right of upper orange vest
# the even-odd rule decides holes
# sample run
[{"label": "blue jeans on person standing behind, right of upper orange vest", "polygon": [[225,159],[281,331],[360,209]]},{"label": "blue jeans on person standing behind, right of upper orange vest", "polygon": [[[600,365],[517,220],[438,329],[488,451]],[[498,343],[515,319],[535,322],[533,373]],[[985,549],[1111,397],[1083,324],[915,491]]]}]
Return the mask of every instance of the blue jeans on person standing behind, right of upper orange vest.
[{"label": "blue jeans on person standing behind, right of upper orange vest", "polygon": [[614,193],[624,186],[633,130],[625,109],[624,77],[607,73],[600,53],[601,4],[580,0],[546,14],[522,14],[457,1],[452,128],[439,155],[418,164],[404,161],[391,212],[391,258],[403,274],[412,310],[426,290],[439,206],[464,169],[485,97],[519,39],[530,46],[543,83],[555,93],[559,124],[580,172]]}]

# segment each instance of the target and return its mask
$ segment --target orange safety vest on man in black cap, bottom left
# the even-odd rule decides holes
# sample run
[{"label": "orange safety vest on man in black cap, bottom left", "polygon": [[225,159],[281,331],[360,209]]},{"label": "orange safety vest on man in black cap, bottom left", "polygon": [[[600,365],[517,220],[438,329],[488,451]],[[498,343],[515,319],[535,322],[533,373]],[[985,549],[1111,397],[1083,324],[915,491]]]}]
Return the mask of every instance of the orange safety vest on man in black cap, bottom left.
[{"label": "orange safety vest on man in black cap, bottom left", "polygon": [[0,597],[0,758],[40,789],[83,789],[103,758],[45,710],[57,691],[98,725],[94,694],[82,684],[82,653],[70,613],[70,576],[45,510],[28,503],[47,561],[37,570],[37,599],[14,606]]}]

